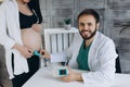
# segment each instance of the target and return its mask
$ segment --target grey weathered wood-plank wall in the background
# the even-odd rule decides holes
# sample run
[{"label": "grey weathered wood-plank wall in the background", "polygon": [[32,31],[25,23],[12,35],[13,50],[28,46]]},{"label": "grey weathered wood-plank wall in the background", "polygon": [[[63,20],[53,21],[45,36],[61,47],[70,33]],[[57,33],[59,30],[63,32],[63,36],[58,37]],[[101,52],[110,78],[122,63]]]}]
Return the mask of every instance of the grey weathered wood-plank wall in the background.
[{"label": "grey weathered wood-plank wall in the background", "polygon": [[[64,20],[72,18],[72,27],[77,28],[77,15],[86,8],[96,10],[101,15],[100,30],[110,37],[119,52],[121,73],[130,74],[130,0],[39,0],[44,29],[61,28]],[[0,0],[2,3],[2,0]],[[43,41],[44,48],[44,41]],[[11,87],[5,67],[4,48],[0,45],[0,83]]]}]

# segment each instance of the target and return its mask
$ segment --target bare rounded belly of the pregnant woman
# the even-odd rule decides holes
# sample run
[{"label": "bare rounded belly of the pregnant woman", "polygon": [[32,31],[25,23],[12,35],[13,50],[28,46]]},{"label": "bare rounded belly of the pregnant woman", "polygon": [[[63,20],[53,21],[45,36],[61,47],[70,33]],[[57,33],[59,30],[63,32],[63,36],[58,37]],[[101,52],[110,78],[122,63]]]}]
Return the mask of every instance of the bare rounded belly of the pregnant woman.
[{"label": "bare rounded belly of the pregnant woman", "polygon": [[31,50],[39,51],[41,48],[41,34],[31,28],[22,29],[22,40],[24,46]]}]

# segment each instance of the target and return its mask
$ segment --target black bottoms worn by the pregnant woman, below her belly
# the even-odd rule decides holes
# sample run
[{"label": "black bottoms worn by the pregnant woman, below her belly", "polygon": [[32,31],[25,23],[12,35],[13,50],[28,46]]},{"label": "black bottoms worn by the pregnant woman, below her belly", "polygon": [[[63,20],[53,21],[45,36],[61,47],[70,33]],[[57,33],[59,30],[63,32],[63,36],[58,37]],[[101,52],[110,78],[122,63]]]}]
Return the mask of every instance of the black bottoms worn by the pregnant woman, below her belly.
[{"label": "black bottoms worn by the pregnant woman, below her belly", "polygon": [[[12,54],[12,67],[14,69],[14,55]],[[27,59],[29,72],[21,75],[14,75],[12,79],[13,87],[22,87],[38,70],[40,66],[40,59],[37,55],[32,55]]]}]

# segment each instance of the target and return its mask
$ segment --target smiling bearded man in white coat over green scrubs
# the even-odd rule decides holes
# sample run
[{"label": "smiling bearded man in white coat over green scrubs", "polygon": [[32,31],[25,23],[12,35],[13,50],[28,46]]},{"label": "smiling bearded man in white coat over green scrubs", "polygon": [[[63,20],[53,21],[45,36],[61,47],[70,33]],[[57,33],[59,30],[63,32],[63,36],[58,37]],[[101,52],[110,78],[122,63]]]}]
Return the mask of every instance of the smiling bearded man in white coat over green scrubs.
[{"label": "smiling bearded man in white coat over green scrubs", "polygon": [[69,69],[67,76],[61,77],[64,82],[108,83],[115,76],[114,41],[98,32],[100,16],[92,9],[86,9],[78,15],[79,34],[75,36],[73,44],[64,52],[49,54],[43,50],[43,58],[51,62],[68,60],[72,69],[84,70],[87,73],[77,73]]}]

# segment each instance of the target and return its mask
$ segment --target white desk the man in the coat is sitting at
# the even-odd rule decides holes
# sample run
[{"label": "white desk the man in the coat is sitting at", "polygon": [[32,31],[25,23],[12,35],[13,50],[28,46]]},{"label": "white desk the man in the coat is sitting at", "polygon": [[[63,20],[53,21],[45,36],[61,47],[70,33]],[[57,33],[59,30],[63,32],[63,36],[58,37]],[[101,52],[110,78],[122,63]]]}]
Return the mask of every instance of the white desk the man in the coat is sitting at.
[{"label": "white desk the man in the coat is sitting at", "polygon": [[[51,70],[40,69],[23,87],[106,87],[101,85],[87,84],[81,82],[64,83],[52,76]],[[130,87],[130,75],[116,74],[110,87]]]}]

